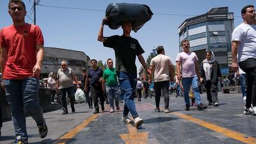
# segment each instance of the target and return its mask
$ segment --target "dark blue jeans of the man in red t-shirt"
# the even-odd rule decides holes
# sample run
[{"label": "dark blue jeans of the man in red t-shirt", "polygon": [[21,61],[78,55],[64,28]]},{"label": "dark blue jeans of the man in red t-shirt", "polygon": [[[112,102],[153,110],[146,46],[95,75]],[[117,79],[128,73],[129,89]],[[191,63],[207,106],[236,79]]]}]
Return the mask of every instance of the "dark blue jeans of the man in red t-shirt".
[{"label": "dark blue jeans of the man in red t-shirt", "polygon": [[10,105],[15,136],[28,139],[23,108],[33,117],[37,126],[44,124],[43,111],[38,104],[38,79],[4,80],[6,97]]}]

